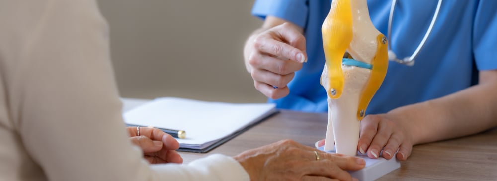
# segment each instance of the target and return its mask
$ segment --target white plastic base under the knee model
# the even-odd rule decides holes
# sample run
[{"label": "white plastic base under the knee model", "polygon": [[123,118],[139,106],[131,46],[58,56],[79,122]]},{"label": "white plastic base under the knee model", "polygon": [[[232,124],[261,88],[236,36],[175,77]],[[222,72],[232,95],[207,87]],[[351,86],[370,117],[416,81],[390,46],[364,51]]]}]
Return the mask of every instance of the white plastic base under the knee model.
[{"label": "white plastic base under the knee model", "polygon": [[[319,150],[323,151],[323,147],[319,147]],[[335,153],[334,151],[328,151],[328,153]],[[374,181],[375,179],[384,176],[398,168],[401,167],[401,163],[394,157],[387,160],[383,157],[378,157],[377,159],[371,159],[366,154],[359,154],[357,157],[362,158],[366,161],[366,167],[361,170],[349,172],[352,177],[358,179],[359,181]]]}]

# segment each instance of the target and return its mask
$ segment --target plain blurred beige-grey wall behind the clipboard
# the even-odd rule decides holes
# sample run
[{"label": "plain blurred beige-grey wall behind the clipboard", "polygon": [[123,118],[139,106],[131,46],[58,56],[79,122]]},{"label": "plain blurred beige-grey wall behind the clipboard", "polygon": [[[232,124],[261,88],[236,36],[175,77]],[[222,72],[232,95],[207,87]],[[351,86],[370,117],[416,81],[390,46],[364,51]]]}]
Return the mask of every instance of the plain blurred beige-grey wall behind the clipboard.
[{"label": "plain blurred beige-grey wall behind the clipboard", "polygon": [[253,0],[100,0],[121,96],[265,102],[243,63]]}]

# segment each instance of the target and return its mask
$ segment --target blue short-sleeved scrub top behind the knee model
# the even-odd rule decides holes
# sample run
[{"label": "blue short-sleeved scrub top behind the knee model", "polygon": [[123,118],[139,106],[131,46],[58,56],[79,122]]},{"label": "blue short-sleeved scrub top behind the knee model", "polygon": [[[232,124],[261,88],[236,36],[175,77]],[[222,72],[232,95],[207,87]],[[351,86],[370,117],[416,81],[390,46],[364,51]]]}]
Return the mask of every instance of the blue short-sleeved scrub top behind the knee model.
[{"label": "blue short-sleeved scrub top behind the knee model", "polygon": [[[368,0],[375,27],[387,35],[391,0]],[[411,56],[423,38],[437,0],[398,0],[389,43],[397,57]],[[288,84],[290,94],[272,100],[278,108],[326,112],[320,85],[325,64],[321,25],[328,0],[256,0],[252,14],[276,16],[304,28],[308,62]],[[366,111],[394,108],[442,97],[478,83],[479,70],[497,69],[497,0],[444,0],[440,14],[414,66],[389,62],[387,76]]]}]

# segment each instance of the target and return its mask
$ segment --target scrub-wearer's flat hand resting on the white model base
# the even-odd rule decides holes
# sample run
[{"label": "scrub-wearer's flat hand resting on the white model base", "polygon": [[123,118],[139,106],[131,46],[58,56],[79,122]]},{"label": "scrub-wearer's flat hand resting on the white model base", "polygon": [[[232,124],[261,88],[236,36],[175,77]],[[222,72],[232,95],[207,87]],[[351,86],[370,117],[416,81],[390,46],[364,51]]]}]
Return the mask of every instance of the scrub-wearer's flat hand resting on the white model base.
[{"label": "scrub-wearer's flat hand resting on the white model base", "polygon": [[[369,158],[378,158],[379,151],[385,159],[406,160],[413,149],[412,133],[394,116],[388,114],[368,115],[361,121],[361,131],[357,150]],[[325,140],[316,142],[316,147],[325,145]],[[396,153],[397,152],[397,153]]]}]

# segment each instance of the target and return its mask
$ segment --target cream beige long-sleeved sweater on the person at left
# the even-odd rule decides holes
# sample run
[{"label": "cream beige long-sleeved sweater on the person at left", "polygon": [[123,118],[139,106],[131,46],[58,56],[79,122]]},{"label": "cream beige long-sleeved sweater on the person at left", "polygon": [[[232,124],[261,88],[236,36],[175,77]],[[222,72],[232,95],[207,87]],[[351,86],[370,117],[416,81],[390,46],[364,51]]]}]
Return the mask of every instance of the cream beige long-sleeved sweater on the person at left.
[{"label": "cream beige long-sleeved sweater on the person at left", "polygon": [[227,156],[149,165],[141,154],[96,2],[0,1],[0,181],[248,180]]}]

